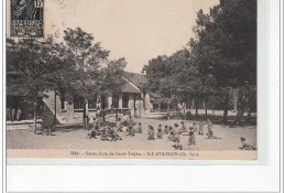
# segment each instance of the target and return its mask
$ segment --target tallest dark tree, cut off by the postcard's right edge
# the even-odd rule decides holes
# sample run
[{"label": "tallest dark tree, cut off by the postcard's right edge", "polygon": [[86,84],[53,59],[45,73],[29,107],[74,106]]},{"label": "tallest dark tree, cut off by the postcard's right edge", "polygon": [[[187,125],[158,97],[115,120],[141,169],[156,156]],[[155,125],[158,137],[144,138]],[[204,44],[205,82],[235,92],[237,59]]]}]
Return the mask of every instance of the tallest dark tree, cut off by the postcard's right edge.
[{"label": "tallest dark tree, cut off by the postcard's right edge", "polygon": [[212,87],[226,95],[227,121],[229,90],[256,85],[256,1],[221,0],[196,22],[189,45],[201,76],[213,76]]}]

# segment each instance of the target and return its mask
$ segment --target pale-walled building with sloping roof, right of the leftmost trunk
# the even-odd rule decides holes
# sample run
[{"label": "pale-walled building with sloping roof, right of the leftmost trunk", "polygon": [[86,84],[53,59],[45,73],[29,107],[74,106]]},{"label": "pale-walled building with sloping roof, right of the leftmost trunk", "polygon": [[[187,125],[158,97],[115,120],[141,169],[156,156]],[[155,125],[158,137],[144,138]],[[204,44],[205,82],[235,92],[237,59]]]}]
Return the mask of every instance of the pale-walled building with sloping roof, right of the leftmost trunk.
[{"label": "pale-walled building with sloping roof, right of the leftmost trunk", "polygon": [[[105,96],[98,94],[94,100],[86,104],[87,115],[94,117],[97,108],[106,109],[108,114],[129,112],[132,117],[146,117],[150,115],[150,95],[144,89],[147,79],[143,74],[124,73],[125,84],[121,87],[119,96]],[[77,96],[67,101],[56,92],[45,93],[44,106],[59,124],[82,121],[84,103]],[[117,108],[118,107],[118,108]]]}]

